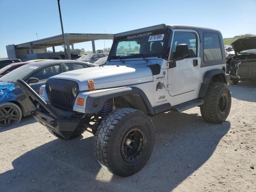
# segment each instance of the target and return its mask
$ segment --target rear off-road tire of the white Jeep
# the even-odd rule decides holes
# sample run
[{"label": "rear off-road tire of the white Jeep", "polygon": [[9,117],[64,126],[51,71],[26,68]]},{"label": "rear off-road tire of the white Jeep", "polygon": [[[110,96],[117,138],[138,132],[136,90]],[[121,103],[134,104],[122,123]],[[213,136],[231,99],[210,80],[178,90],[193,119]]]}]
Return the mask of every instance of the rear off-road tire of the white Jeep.
[{"label": "rear off-road tire of the white Jeep", "polygon": [[[221,96],[226,97],[226,107],[220,111],[219,104]],[[210,123],[219,124],[226,120],[231,108],[231,94],[228,85],[220,82],[211,82],[208,86],[204,104],[200,106],[202,118]]]}]

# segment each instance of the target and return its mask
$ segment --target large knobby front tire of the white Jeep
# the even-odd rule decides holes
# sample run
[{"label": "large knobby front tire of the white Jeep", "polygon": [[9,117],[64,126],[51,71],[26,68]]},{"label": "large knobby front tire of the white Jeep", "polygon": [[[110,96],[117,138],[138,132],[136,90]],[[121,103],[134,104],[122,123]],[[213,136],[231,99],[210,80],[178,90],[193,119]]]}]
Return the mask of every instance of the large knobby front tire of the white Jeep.
[{"label": "large knobby front tire of the white Jeep", "polygon": [[[128,162],[122,154],[122,144],[126,133],[134,127],[140,127],[146,136],[146,142],[139,157]],[[110,112],[100,123],[94,140],[94,150],[101,166],[124,177],[145,166],[152,154],[154,142],[154,125],[145,113],[131,108],[119,108]]]}]

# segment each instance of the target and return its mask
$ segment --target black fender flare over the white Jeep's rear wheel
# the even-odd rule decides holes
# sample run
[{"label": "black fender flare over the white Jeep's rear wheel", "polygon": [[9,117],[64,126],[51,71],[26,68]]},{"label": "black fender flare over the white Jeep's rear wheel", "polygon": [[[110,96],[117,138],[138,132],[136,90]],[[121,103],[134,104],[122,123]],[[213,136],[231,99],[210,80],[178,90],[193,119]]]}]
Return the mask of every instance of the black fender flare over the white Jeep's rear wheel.
[{"label": "black fender flare over the white Jeep's rear wheel", "polygon": [[222,83],[228,84],[227,78],[226,78],[226,73],[224,72],[224,70],[222,69],[213,69],[210,71],[207,71],[204,74],[204,78],[203,78],[203,82],[201,84],[201,88],[198,94],[198,98],[203,98],[206,95],[208,86],[212,80],[212,77],[214,75],[219,75],[220,76],[220,80]]}]

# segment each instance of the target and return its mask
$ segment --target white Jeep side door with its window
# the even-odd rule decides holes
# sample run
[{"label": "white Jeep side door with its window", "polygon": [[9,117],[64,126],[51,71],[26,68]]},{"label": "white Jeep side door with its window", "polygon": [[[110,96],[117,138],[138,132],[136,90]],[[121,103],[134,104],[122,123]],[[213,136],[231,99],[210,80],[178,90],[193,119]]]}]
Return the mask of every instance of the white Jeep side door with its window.
[{"label": "white Jeep side door with its window", "polygon": [[[198,89],[200,83],[200,73],[198,68],[200,68],[201,62],[198,51],[198,39],[199,37],[196,31],[174,31],[170,54],[171,63],[169,64],[168,69],[168,87],[170,96],[193,92]],[[178,54],[181,46],[178,47],[178,51],[176,52],[176,48],[180,44],[183,44],[183,48],[184,44],[188,46],[188,54],[184,57],[180,57]]]}]

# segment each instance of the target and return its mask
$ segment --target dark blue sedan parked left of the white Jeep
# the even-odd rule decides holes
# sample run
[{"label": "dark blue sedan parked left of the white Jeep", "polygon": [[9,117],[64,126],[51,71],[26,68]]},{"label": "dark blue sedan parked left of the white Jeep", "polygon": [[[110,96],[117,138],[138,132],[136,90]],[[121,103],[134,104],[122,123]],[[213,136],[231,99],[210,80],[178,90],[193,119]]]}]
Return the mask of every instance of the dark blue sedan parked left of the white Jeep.
[{"label": "dark blue sedan parked left of the white Jeep", "polygon": [[1,77],[0,84],[14,83],[16,100],[0,104],[0,128],[17,124],[22,116],[28,116],[34,110],[30,100],[16,85],[18,79],[27,82],[39,94],[40,86],[51,76],[92,66],[96,65],[74,60],[48,60],[23,65]]}]

